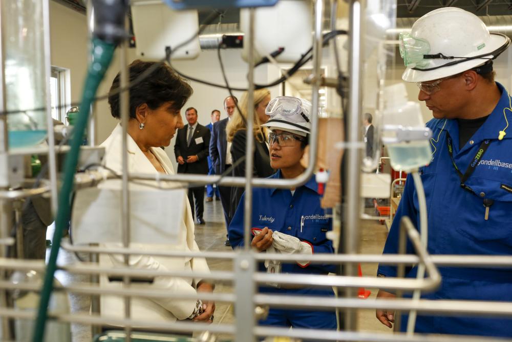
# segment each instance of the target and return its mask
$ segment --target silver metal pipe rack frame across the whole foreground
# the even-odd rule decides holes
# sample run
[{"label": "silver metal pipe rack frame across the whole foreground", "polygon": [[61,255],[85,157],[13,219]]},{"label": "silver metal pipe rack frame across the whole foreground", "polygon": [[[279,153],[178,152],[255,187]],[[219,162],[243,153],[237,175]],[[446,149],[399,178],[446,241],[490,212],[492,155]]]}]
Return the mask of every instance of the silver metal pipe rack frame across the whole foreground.
[{"label": "silver metal pipe rack frame across the whole foreground", "polygon": [[[45,0],[45,26],[49,27],[49,11],[48,0]],[[436,341],[436,342],[455,342],[455,341],[480,341],[481,337],[467,336],[439,336],[439,335],[405,335],[395,333],[393,335],[383,335],[380,333],[356,332],[356,314],[355,309],[375,309],[387,308],[401,311],[417,310],[438,315],[484,315],[498,317],[512,317],[512,305],[510,303],[496,303],[493,301],[474,301],[474,300],[424,300],[420,299],[412,301],[409,299],[366,299],[356,298],[355,289],[358,287],[378,287],[381,289],[396,289],[400,291],[413,291],[421,289],[422,291],[433,291],[439,285],[441,278],[437,266],[456,266],[456,267],[496,267],[509,268],[512,267],[512,256],[475,256],[475,255],[429,255],[420,243],[417,230],[408,220],[401,223],[401,253],[396,255],[369,255],[357,254],[357,246],[359,241],[359,185],[360,185],[360,165],[361,165],[361,132],[359,130],[359,117],[361,114],[361,31],[362,31],[362,8],[364,3],[361,1],[352,1],[350,3],[350,100],[348,111],[348,136],[347,136],[347,163],[348,163],[348,184],[347,186],[347,205],[344,208],[344,236],[345,236],[345,254],[337,255],[283,255],[283,254],[259,254],[250,250],[250,234],[251,228],[251,204],[252,204],[252,187],[265,188],[289,188],[300,186],[307,182],[313,175],[318,141],[318,117],[312,116],[312,130],[310,138],[310,154],[309,164],[306,171],[295,179],[257,179],[252,177],[252,159],[246,159],[246,175],[245,177],[223,177],[221,176],[203,176],[203,175],[150,175],[140,173],[129,173],[127,170],[127,151],[126,151],[126,123],[128,120],[129,94],[124,92],[121,94],[121,117],[123,122],[123,173],[119,176],[122,179],[123,204],[121,210],[122,230],[123,230],[123,247],[105,248],[93,246],[73,246],[63,243],[62,247],[72,252],[87,252],[91,254],[113,253],[122,254],[125,260],[124,267],[105,268],[94,263],[82,263],[77,265],[61,266],[59,269],[77,274],[111,274],[123,276],[125,288],[123,289],[104,289],[100,286],[90,284],[70,284],[68,286],[58,287],[56,291],[67,291],[73,293],[89,294],[98,296],[100,294],[112,294],[124,296],[125,299],[125,317],[123,319],[105,317],[98,314],[56,314],[50,313],[51,319],[57,319],[65,322],[90,324],[92,326],[101,326],[109,324],[112,326],[123,326],[127,333],[127,340],[130,340],[130,331],[132,327],[141,325],[151,325],[158,331],[191,331],[200,332],[208,330],[213,333],[228,333],[235,337],[238,342],[254,341],[257,336],[289,336],[295,338],[313,338],[315,340],[346,340],[346,341]],[[1,6],[1,5],[0,5]],[[314,0],[314,45],[313,45],[313,75],[312,75],[312,107],[313,112],[318,108],[318,88],[321,83],[321,53],[322,53],[322,14],[324,11],[324,0]],[[250,31],[246,37],[249,44],[249,103],[252,100],[252,91],[254,89],[253,71],[254,71],[254,10],[250,11]],[[1,23],[0,23],[1,24]],[[45,32],[45,46],[49,51],[49,30]],[[124,44],[121,47],[120,62],[121,69],[121,87],[127,84],[127,47]],[[2,52],[2,51],[0,51]],[[3,56],[3,54],[0,54]],[[49,53],[45,55],[47,67],[49,66]],[[3,70],[3,58],[2,58]],[[0,71],[1,72],[1,71]],[[3,80],[3,75],[0,75]],[[2,84],[2,96],[0,107],[5,109],[5,92]],[[47,111],[50,113],[50,110]],[[50,115],[50,114],[49,114]],[[254,110],[251,106],[248,108],[248,127],[252,130]],[[7,145],[7,125],[6,115],[0,116],[0,129],[4,133],[5,139],[0,141],[0,154],[8,154]],[[49,116],[50,125],[51,116]],[[50,134],[51,136],[51,134]],[[250,155],[254,144],[254,137],[247,135],[246,154]],[[50,160],[50,181],[39,189],[30,190],[2,190],[0,191],[0,242],[7,243],[8,237],[6,228],[9,227],[11,217],[11,201],[27,196],[40,195],[41,193],[51,192],[52,208],[56,209],[57,179],[56,179],[56,158],[55,158],[55,142],[53,136],[49,139],[49,160]],[[95,186],[101,181],[101,177],[94,172],[90,175],[80,175],[76,177],[80,180],[77,187]],[[244,212],[244,242],[245,247],[239,251],[233,252],[154,252],[130,249],[130,220],[127,213],[129,208],[129,183],[132,179],[156,180],[158,182],[189,182],[196,184],[217,183],[225,186],[244,186],[246,191]],[[417,255],[403,254],[405,249],[406,235],[409,237]],[[2,244],[0,244],[2,245]],[[0,246],[0,251],[4,252],[5,244]],[[219,258],[233,261],[232,271],[217,271],[208,274],[199,274],[194,272],[154,272],[151,270],[137,270],[129,267],[128,258],[130,254],[141,255],[159,255],[159,256],[180,256],[180,257],[206,257]],[[4,253],[2,254],[4,255]],[[272,258],[281,261],[309,260],[311,263],[332,263],[345,265],[345,274],[336,276],[324,275],[295,275],[295,274],[267,274],[257,272],[258,262]],[[378,278],[378,277],[358,277],[356,272],[356,263],[381,263],[393,264],[399,266],[400,269],[406,265],[423,264],[428,272],[428,277],[424,279],[407,279],[407,278]],[[0,257],[0,316],[3,318],[3,327],[8,324],[7,318],[23,318],[34,319],[35,313],[18,311],[10,309],[6,305],[5,293],[7,289],[24,289],[30,291],[38,291],[38,287],[31,284],[14,285],[5,279],[6,270],[36,270],[44,271],[45,265],[41,261],[30,260],[13,260]],[[403,273],[403,272],[402,272]],[[205,279],[215,280],[222,283],[233,284],[233,293],[198,293],[197,295],[184,296],[181,294],[169,295],[167,291],[152,291],[147,293],[130,285],[130,276],[178,276],[192,277],[200,276]],[[325,297],[306,297],[306,296],[278,296],[272,294],[257,293],[257,284],[264,284],[268,281],[290,285],[304,285],[316,287],[339,287],[346,289],[345,297],[342,298],[325,298]],[[225,303],[232,303],[236,309],[237,320],[232,325],[219,324],[207,325],[202,323],[176,322],[176,323],[155,323],[134,320],[131,318],[130,298],[137,297],[177,297],[177,298],[201,298],[205,300],[217,300]],[[344,309],[346,312],[345,331],[325,331],[325,330],[305,330],[305,329],[284,329],[273,327],[262,327],[257,325],[255,309],[258,306],[272,305],[285,308],[314,308],[314,309]],[[3,329],[4,332],[8,329]],[[11,336],[4,335],[3,338],[8,340]],[[486,340],[503,341],[501,338],[486,338]]]}]

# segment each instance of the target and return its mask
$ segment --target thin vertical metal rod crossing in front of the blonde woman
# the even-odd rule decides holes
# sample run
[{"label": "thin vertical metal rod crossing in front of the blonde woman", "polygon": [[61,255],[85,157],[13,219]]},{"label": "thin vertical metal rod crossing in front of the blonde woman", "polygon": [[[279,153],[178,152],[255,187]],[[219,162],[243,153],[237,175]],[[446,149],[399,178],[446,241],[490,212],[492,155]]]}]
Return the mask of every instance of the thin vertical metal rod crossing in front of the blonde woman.
[{"label": "thin vertical metal rod crossing in front of the blonde woman", "polygon": [[[247,90],[247,122],[245,145],[245,202],[244,202],[244,250],[250,250],[250,229],[252,226],[252,168],[254,164],[254,9],[249,9],[249,39],[248,39],[248,55],[249,71],[247,73],[247,82],[249,89]],[[242,109],[243,110],[243,109]],[[240,113],[242,115],[242,113]]]}]

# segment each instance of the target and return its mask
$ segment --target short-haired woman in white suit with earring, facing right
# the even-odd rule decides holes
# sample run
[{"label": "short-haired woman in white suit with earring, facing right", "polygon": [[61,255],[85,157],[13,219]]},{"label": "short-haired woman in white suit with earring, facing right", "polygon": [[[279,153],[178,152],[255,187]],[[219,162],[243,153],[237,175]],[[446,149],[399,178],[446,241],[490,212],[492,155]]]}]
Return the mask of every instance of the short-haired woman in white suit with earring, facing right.
[{"label": "short-haired woman in white suit with earring, facing right", "polygon": [[[154,64],[153,62],[134,61],[129,67],[130,81]],[[110,93],[113,94],[118,88],[119,74],[114,78]],[[168,146],[176,134],[176,130],[183,127],[180,110],[191,94],[192,88],[165,65],[159,66],[144,81],[130,89],[130,120],[127,127],[130,172],[174,174],[170,159],[160,147]],[[119,95],[110,95],[109,104],[112,115],[119,119]],[[120,173],[122,171],[122,128],[120,124],[101,146],[105,147],[104,165]],[[109,182],[116,182],[116,180]],[[151,251],[198,251],[190,205],[186,197],[183,200],[185,212],[183,219],[178,223],[181,225],[181,238],[176,245],[132,243],[130,247]],[[169,206],[172,205],[169,203]],[[139,227],[137,228],[139,229]],[[140,229],[144,229],[144,227],[140,227]],[[100,264],[120,266],[124,265],[124,259],[120,255],[101,255]],[[139,269],[209,272],[204,258],[132,255],[130,265]],[[109,279],[104,275],[100,277],[100,285],[109,288],[122,287],[121,281]],[[199,291],[213,291],[213,286],[206,281],[179,277],[159,276],[146,284],[137,283],[135,285],[147,288],[148,292],[152,289],[168,290],[169,294],[195,294]],[[195,299],[133,298],[131,314],[133,319],[144,321],[175,321],[190,318],[208,323],[213,319],[214,310],[215,303],[201,303]],[[124,315],[123,298],[102,296],[101,313],[111,317]]]}]

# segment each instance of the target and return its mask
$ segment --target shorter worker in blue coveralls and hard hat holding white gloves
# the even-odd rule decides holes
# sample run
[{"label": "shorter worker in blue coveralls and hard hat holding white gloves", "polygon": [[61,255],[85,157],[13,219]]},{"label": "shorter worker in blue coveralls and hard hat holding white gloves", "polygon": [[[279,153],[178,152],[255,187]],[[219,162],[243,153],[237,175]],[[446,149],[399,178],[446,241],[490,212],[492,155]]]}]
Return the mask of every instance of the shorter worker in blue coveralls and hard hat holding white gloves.
[{"label": "shorter worker in blue coveralls and hard hat holding white gloves", "polygon": [[[270,116],[263,125],[268,134],[270,165],[278,170],[270,178],[295,178],[304,172],[300,160],[308,145],[311,103],[296,97],[280,96],[272,99],[266,108]],[[233,249],[244,244],[244,197],[229,225],[229,242]],[[251,246],[264,252],[286,254],[333,253],[334,249],[326,232],[331,229],[328,218],[320,206],[321,196],[313,175],[303,186],[294,189],[255,188],[252,192]],[[269,273],[328,274],[335,272],[333,265],[309,264],[301,261],[280,264],[274,260],[260,265],[261,271]],[[264,286],[261,292],[280,295],[334,296],[331,288],[294,286]],[[336,329],[333,311],[288,310],[270,308],[268,317],[261,325],[280,327]]]}]

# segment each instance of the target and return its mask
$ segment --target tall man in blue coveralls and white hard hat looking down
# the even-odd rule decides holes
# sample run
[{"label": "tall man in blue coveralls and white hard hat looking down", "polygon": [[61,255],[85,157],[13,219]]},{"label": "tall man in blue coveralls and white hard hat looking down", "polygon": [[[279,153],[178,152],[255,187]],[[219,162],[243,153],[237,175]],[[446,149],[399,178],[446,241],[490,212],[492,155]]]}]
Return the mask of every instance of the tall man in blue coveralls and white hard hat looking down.
[{"label": "tall man in blue coveralls and white hard hat looking down", "polygon": [[[432,160],[420,169],[429,221],[431,254],[512,254],[512,121],[511,100],[494,82],[493,59],[510,39],[489,34],[482,21],[459,8],[432,11],[401,34],[407,66],[402,78],[416,82],[418,99],[432,110]],[[400,219],[419,226],[414,182],[406,188],[383,253],[398,252]],[[408,253],[413,253],[408,245]],[[442,284],[425,299],[512,301],[512,270],[440,267]],[[377,275],[395,277],[396,267],[379,265]],[[406,270],[416,277],[416,267]],[[378,298],[395,295],[380,290]],[[512,306],[512,304],[510,304]],[[392,327],[394,312],[377,310]],[[402,330],[408,317],[402,319]],[[418,313],[420,333],[512,336],[512,320]]]}]

